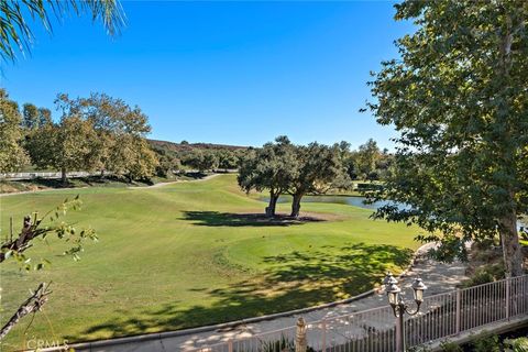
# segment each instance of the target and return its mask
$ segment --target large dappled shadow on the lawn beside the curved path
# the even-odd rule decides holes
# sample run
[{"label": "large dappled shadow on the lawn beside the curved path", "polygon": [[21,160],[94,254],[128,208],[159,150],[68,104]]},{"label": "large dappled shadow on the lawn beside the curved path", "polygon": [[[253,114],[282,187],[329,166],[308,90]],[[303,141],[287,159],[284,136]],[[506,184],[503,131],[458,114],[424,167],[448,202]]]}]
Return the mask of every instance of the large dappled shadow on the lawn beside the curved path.
[{"label": "large dappled shadow on the lawn beside the curved path", "polygon": [[[177,302],[167,302],[157,309],[136,310],[135,315],[120,311],[120,318],[90,327],[84,336],[105,333],[116,338],[147,330],[176,330],[330,302],[371,289],[391,266],[405,267],[413,255],[407,249],[364,243],[326,249],[331,252],[294,251],[261,257],[270,264],[265,273],[226,288],[206,290],[207,297],[202,299],[211,301],[210,305],[197,301],[185,309]],[[189,287],[189,292],[194,290]],[[145,295],[148,295],[146,287]]]}]

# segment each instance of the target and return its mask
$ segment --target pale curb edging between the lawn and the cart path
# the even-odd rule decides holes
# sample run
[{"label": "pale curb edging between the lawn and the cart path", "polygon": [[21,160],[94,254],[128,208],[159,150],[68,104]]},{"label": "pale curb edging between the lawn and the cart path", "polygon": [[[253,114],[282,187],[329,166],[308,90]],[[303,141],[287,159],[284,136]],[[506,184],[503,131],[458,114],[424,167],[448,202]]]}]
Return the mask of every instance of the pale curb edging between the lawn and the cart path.
[{"label": "pale curb edging between the lawn and the cart path", "polygon": [[[398,275],[398,277],[399,278],[406,277],[407,274],[415,266],[417,257],[420,256],[421,254],[424,254],[430,246],[431,246],[431,243],[428,243],[428,244],[424,244],[418,250],[416,250],[415,253],[413,254],[410,264],[406,267],[406,270],[404,272],[402,272],[402,274]],[[376,292],[378,292],[378,288],[372,288],[372,289],[370,289],[370,290],[367,290],[363,294],[356,295],[354,297],[350,297],[350,298],[341,299],[341,300],[336,300],[336,301],[319,305],[319,306],[294,309],[294,310],[277,312],[277,314],[273,314],[273,315],[266,315],[266,316],[261,316],[261,317],[253,317],[253,318],[248,318],[248,319],[241,319],[241,320],[235,320],[235,321],[230,321],[230,322],[218,323],[218,324],[213,324],[213,326],[205,326],[205,327],[199,327],[199,328],[191,328],[191,329],[176,330],[176,331],[154,332],[154,333],[139,334],[139,336],[117,338],[117,339],[98,340],[98,341],[91,341],[91,342],[80,342],[80,343],[72,344],[72,345],[69,345],[69,348],[73,348],[73,349],[100,348],[100,346],[108,346],[108,345],[116,345],[116,344],[123,344],[123,343],[150,341],[150,340],[163,340],[163,339],[166,339],[166,338],[180,337],[180,336],[186,336],[186,334],[200,333],[200,332],[215,331],[215,330],[232,329],[232,328],[235,328],[235,327],[239,327],[239,326],[244,326],[244,324],[248,324],[248,323],[266,321],[266,320],[272,320],[272,319],[276,319],[276,318],[284,318],[284,317],[295,316],[295,315],[299,315],[299,314],[310,312],[310,311],[314,311],[314,310],[331,308],[331,307],[349,304],[349,302],[369,297],[371,295],[374,295]],[[50,349],[43,349],[43,350],[40,350],[40,351],[42,351],[42,352],[55,352],[55,351],[63,351],[63,350],[61,350],[61,348],[50,348]]]}]

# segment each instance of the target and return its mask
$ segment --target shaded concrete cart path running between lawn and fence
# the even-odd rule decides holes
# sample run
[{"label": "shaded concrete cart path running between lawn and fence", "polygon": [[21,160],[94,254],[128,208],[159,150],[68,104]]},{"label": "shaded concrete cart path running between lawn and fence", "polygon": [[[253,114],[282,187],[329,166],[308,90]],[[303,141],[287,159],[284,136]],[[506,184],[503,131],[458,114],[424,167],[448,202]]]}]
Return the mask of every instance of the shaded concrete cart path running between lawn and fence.
[{"label": "shaded concrete cart path running between lawn and fence", "polygon": [[[400,276],[400,287],[407,295],[411,295],[410,285],[415,277],[421,277],[428,286],[427,296],[452,290],[461,280],[466,278],[465,264],[460,262],[438,263],[428,258],[425,253],[431,245],[435,244],[421,246],[416,253],[411,267]],[[230,339],[246,338],[266,331],[293,327],[299,317],[302,317],[307,322],[312,322],[386,305],[385,294],[375,292],[364,298],[332,307],[310,311],[302,310],[305,312],[280,314],[275,315],[276,318],[271,317],[266,320],[252,319],[252,322],[241,321],[237,326],[226,327],[224,324],[224,327],[204,327],[174,331],[156,334],[154,339],[148,339],[148,336],[123,338],[118,339],[121,341],[119,344],[106,344],[100,341],[102,343],[86,343],[74,346],[76,351],[189,351]]]}]

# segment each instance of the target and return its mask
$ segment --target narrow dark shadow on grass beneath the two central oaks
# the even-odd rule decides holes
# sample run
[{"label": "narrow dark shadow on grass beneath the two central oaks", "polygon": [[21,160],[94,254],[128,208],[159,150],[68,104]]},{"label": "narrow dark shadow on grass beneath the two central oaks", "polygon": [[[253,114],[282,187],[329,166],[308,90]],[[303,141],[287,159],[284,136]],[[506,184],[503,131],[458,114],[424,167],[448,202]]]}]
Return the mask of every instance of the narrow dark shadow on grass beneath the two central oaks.
[{"label": "narrow dark shadow on grass beneath the two central oaks", "polygon": [[314,217],[266,217],[262,213],[234,213],[219,211],[184,211],[180,220],[193,221],[200,227],[289,227],[306,222],[326,221]]}]

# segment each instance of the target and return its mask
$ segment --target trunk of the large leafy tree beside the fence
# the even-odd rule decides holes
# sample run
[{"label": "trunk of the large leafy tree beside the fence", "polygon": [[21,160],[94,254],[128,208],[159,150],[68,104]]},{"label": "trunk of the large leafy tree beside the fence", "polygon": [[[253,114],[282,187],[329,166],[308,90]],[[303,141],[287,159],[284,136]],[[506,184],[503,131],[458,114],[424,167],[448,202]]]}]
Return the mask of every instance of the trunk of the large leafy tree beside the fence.
[{"label": "trunk of the large leafy tree beside the fence", "polygon": [[508,277],[522,275],[522,251],[515,212],[501,219],[501,241],[506,275]]}]

